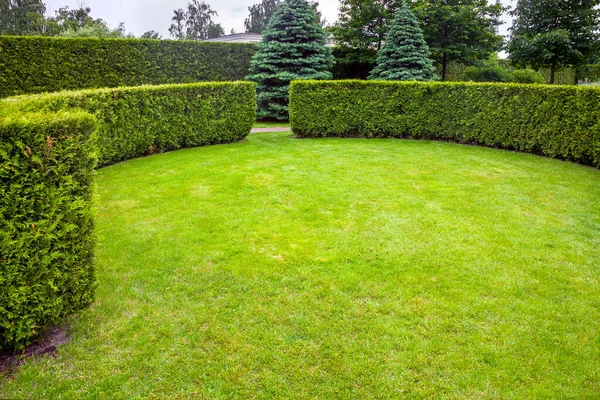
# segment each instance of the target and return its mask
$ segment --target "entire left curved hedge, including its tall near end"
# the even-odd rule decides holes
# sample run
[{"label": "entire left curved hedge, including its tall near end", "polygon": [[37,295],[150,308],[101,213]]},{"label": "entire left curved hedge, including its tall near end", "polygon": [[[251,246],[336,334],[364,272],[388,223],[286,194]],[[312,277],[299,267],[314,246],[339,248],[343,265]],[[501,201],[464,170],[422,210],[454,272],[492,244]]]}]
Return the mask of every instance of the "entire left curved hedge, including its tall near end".
[{"label": "entire left curved hedge, including its tall near end", "polygon": [[0,350],[23,348],[93,301],[97,158],[108,165],[241,140],[255,108],[256,87],[248,82],[0,101]]}]

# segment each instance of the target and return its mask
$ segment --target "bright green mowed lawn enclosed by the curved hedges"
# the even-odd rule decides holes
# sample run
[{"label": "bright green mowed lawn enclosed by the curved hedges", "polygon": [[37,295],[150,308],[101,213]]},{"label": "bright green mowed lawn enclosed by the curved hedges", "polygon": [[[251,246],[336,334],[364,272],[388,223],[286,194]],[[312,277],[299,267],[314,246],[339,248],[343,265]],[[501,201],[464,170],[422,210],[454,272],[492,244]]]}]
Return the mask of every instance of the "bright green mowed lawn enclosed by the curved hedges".
[{"label": "bright green mowed lawn enclosed by the curved hedges", "polygon": [[600,171],[401,140],[98,172],[98,300],[9,398],[597,398]]}]

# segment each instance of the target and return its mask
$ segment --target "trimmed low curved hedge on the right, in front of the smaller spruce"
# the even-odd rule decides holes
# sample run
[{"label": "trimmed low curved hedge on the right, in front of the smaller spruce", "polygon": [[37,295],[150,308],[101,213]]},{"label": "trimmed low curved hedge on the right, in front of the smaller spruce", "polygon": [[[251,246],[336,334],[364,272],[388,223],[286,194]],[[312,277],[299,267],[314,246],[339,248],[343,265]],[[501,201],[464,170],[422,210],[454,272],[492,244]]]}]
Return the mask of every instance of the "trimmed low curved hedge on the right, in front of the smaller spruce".
[{"label": "trimmed low curved hedge on the right, in front of the smaller spruce", "polygon": [[494,83],[294,81],[300,137],[441,139],[600,167],[600,89]]}]

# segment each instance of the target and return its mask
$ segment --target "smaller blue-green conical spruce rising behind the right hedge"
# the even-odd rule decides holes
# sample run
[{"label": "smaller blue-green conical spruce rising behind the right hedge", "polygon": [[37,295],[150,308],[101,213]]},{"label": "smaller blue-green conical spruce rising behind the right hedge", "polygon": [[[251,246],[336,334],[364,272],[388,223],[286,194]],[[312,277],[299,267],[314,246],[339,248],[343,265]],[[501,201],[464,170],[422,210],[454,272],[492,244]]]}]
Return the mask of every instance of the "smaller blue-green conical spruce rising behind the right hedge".
[{"label": "smaller blue-green conical spruce rising behind the right hedge", "polygon": [[406,3],[396,12],[369,79],[431,81],[437,79],[419,22]]}]

